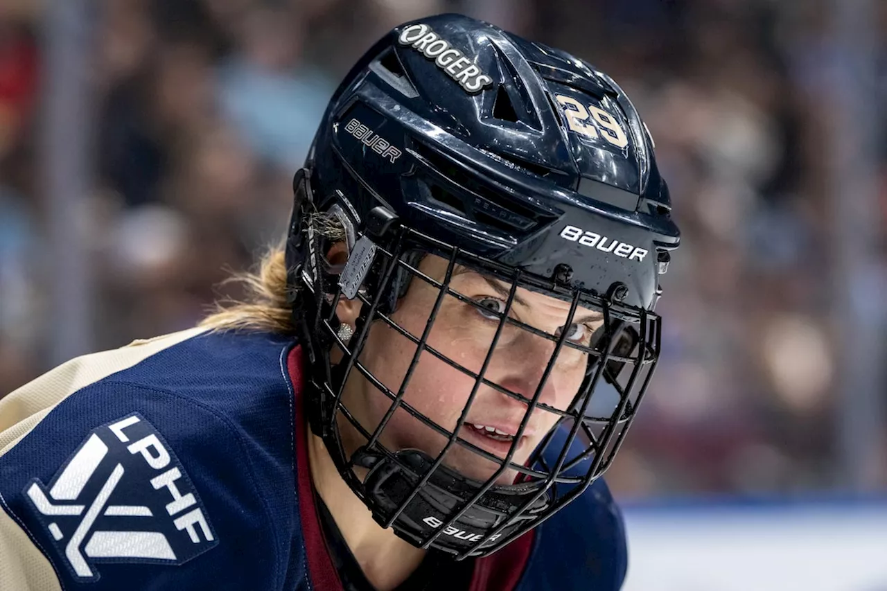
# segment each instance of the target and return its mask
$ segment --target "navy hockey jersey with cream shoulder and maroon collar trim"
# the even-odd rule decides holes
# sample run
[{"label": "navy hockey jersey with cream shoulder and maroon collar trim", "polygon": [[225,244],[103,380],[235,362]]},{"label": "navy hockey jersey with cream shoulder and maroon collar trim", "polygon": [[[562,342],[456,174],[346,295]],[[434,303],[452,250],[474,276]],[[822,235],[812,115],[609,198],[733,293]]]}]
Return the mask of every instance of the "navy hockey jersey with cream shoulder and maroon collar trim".
[{"label": "navy hockey jersey with cream shoulder and maroon collar trim", "polygon": [[[184,331],[74,359],[0,399],[0,589],[341,589],[311,493],[301,349]],[[618,589],[598,480],[475,560],[470,589]]]}]

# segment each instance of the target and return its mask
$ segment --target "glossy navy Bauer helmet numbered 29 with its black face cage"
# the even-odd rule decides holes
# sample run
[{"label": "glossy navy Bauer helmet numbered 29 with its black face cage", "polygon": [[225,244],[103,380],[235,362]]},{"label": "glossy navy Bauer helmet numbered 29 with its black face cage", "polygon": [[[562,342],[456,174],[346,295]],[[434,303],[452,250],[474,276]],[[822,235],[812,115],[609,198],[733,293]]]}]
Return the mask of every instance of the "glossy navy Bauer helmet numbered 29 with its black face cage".
[{"label": "glossy navy Bauer helmet numbered 29 with its black face cage", "polygon": [[[679,244],[653,141],[608,75],[464,16],[406,23],[367,51],[335,92],[294,193],[287,270],[310,359],[311,428],[380,524],[423,548],[483,556],[551,516],[608,468],[659,356],[659,275]],[[330,242],[314,226],[318,212],[344,228],[344,268],[324,257]],[[428,254],[449,262],[443,280],[419,272]],[[422,335],[392,318],[417,280],[438,288],[439,300],[449,295],[482,305],[450,287],[457,265],[509,291],[504,310],[493,312],[498,329],[478,372],[428,345],[434,314]],[[569,303],[568,323],[579,306],[604,320],[592,343],[535,330],[554,344],[530,397],[484,376],[503,327],[534,331],[510,313],[519,288]],[[341,297],[363,303],[347,340],[335,314]],[[399,388],[360,362],[374,323],[415,345]],[[544,382],[568,347],[587,356],[585,379],[569,407],[546,406]],[[341,351],[337,362],[334,349]],[[412,370],[428,354],[475,380],[454,426],[437,425],[404,399]],[[369,428],[342,398],[355,372],[390,401]],[[482,387],[522,401],[528,416],[536,409],[558,415],[529,461],[512,461],[515,444],[501,457],[460,436]],[[445,437],[443,449],[432,455],[383,445],[396,409]],[[343,421],[364,445],[346,449]],[[514,442],[520,437],[514,434]],[[454,445],[499,469],[486,481],[460,474],[443,461]],[[506,469],[520,475],[512,485],[497,483]]]}]

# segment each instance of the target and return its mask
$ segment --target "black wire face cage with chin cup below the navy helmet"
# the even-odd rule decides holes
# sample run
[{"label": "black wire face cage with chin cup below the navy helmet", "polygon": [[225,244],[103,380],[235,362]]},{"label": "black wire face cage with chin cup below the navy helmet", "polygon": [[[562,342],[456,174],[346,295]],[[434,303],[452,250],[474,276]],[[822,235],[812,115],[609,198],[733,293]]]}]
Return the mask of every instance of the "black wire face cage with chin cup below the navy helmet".
[{"label": "black wire face cage with chin cup below the navy helmet", "polygon": [[[381,526],[393,527],[400,537],[420,548],[438,548],[459,559],[489,555],[553,516],[608,469],[647,390],[659,357],[660,318],[650,311],[619,304],[613,294],[600,296],[582,289],[570,289],[554,280],[542,280],[513,267],[474,256],[399,225],[386,209],[373,209],[370,217],[365,232],[357,234],[357,244],[352,248],[344,270],[330,267],[323,256],[318,256],[318,253],[326,252],[323,248],[328,242],[320,240],[310,225],[303,228],[307,234],[304,238],[309,242],[307,256],[313,260],[305,261],[295,272],[300,288],[306,291],[298,319],[302,324],[302,343],[309,345],[310,383],[307,384],[306,404],[311,428],[323,437],[341,477],[371,508],[374,519]],[[419,271],[418,262],[424,253],[443,256],[449,261],[442,281]],[[481,307],[480,303],[450,288],[457,264],[509,286],[505,311],[499,314],[490,350],[478,373],[459,365],[427,343],[444,296],[449,294],[464,303]],[[390,316],[397,298],[404,295],[411,280],[427,281],[439,289],[434,309],[421,335],[410,334]],[[564,326],[572,322],[580,304],[599,310],[604,323],[592,345],[568,341],[566,330],[561,331],[561,335],[550,335],[510,318],[517,288],[528,288],[569,301],[569,317]],[[335,315],[343,291],[346,296],[357,296],[363,303],[348,343],[338,335],[340,324]],[[396,391],[386,387],[358,361],[373,322],[387,324],[416,345],[403,382]],[[555,342],[553,355],[531,398],[484,377],[506,323]],[[330,360],[333,347],[343,353],[343,358],[335,365]],[[539,400],[563,347],[576,348],[588,355],[585,379],[567,410],[548,406]],[[454,430],[436,424],[404,400],[423,351],[475,380]],[[352,371],[362,374],[390,400],[387,413],[372,431],[365,429],[341,400]],[[527,405],[520,429],[504,459],[459,437],[482,384]],[[597,403],[593,404],[593,399]],[[390,450],[381,444],[381,434],[397,408],[403,408],[414,419],[446,437],[447,441],[436,457],[415,449]],[[557,414],[559,418],[531,453],[526,465],[520,465],[512,458],[536,408]],[[347,453],[342,445],[338,427],[340,417],[365,438],[365,444],[352,453]],[[461,445],[494,461],[499,468],[484,482],[464,477],[443,464],[453,445]],[[357,477],[356,467],[368,470],[363,479]],[[514,469],[519,474],[514,485],[494,484],[506,469]]]}]

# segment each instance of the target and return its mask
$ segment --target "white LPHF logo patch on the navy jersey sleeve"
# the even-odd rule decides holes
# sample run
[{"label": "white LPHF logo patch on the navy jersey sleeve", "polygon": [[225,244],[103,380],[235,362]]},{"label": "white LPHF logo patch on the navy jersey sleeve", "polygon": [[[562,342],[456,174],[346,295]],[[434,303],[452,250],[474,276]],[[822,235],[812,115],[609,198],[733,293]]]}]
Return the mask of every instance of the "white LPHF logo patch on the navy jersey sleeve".
[{"label": "white LPHF logo patch on the navy jersey sleeve", "polygon": [[94,429],[25,494],[82,581],[98,580],[95,563],[182,564],[218,543],[182,464],[140,414]]}]

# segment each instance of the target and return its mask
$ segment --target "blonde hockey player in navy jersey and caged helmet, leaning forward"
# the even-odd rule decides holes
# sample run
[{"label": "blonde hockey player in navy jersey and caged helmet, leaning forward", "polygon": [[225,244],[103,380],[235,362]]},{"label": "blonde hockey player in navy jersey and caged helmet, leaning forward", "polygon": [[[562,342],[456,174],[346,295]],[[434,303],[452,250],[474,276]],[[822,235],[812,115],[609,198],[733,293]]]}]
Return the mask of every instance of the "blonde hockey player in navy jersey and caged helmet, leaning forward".
[{"label": "blonde hockey player in navy jersey and caged helmet, leaning forward", "polygon": [[396,28],[251,299],[0,400],[0,588],[617,589],[600,475],[659,356],[669,212],[607,75]]}]

